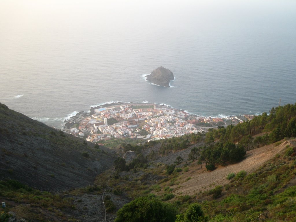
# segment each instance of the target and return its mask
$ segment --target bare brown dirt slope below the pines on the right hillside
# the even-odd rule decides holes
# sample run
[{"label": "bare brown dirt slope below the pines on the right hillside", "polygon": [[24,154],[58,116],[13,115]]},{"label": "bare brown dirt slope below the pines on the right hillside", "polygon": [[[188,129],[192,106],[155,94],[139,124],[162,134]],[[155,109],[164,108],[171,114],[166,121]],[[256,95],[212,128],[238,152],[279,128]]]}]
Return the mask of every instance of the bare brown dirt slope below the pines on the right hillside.
[{"label": "bare brown dirt slope below the pines on the right hillside", "polygon": [[188,177],[191,177],[191,179],[184,183],[181,182],[181,188],[177,188],[177,185],[173,186],[174,193],[178,194],[182,192],[182,195],[194,195],[217,185],[227,184],[229,181],[226,179],[226,176],[229,173],[238,173],[241,170],[252,173],[257,170],[260,165],[263,165],[263,163],[284,150],[287,145],[295,146],[295,141],[296,139],[287,140],[276,147],[274,144],[270,144],[265,147],[250,150],[247,152],[246,158],[243,161],[225,167],[219,166],[216,170],[211,172],[207,172],[204,167],[201,170],[189,170],[188,173],[185,173],[186,177],[184,177],[184,179]]}]

